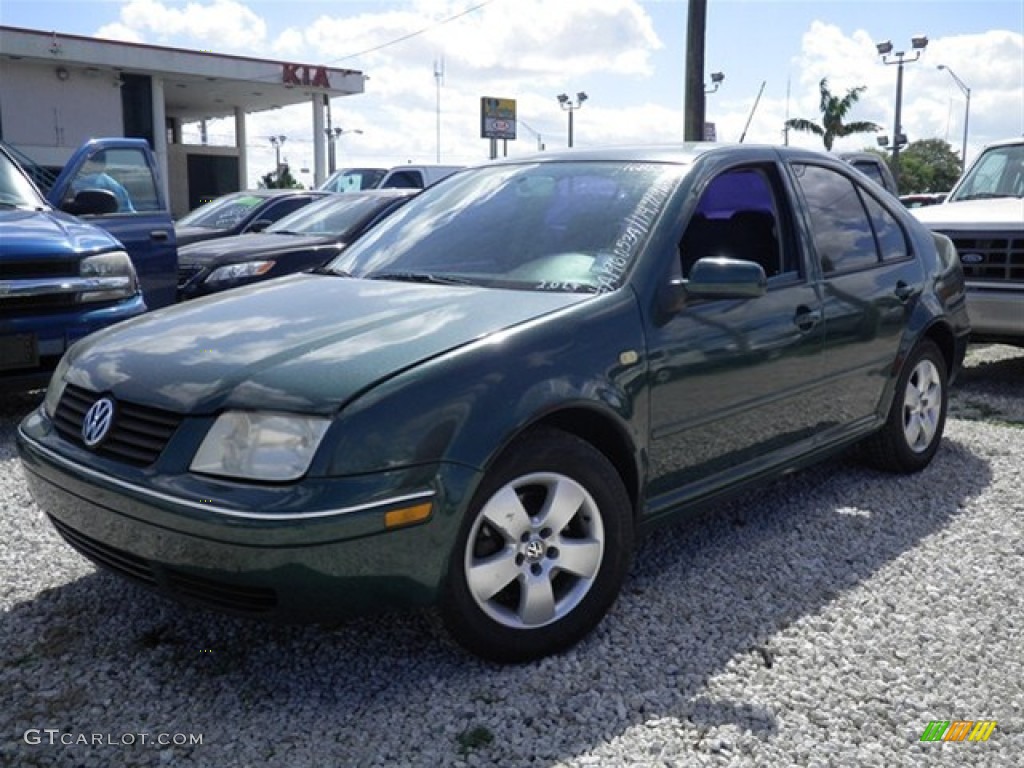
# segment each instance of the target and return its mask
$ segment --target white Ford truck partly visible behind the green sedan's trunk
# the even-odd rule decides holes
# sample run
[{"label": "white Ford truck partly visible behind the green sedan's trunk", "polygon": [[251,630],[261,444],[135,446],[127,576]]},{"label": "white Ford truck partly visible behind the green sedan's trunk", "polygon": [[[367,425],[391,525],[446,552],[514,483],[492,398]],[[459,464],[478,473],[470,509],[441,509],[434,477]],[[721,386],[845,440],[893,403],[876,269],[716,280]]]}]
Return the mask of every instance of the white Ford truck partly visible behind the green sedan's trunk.
[{"label": "white Ford truck partly visible behind the green sedan's trunk", "polygon": [[1024,138],[986,146],[943,203],[913,213],[956,246],[972,340],[1024,346]]}]

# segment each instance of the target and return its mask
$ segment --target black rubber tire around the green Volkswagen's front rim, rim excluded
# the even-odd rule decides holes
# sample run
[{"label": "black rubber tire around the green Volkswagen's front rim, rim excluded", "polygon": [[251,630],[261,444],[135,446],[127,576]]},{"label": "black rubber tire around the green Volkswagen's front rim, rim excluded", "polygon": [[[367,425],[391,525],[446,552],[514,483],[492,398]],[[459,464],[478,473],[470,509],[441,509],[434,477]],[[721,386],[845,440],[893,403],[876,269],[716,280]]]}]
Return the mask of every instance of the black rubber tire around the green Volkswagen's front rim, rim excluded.
[{"label": "black rubber tire around the green Volkswagen's front rim, rim excluded", "polygon": [[[506,627],[484,613],[469,591],[465,553],[480,510],[500,488],[536,472],[572,478],[593,498],[604,528],[604,556],[580,604],[562,618],[537,629]],[[463,647],[495,662],[527,662],[577,644],[614,603],[629,570],[633,522],[629,496],[611,463],[590,443],[554,429],[538,429],[513,443],[486,473],[468,508],[452,551],[440,606],[449,633]]]}]

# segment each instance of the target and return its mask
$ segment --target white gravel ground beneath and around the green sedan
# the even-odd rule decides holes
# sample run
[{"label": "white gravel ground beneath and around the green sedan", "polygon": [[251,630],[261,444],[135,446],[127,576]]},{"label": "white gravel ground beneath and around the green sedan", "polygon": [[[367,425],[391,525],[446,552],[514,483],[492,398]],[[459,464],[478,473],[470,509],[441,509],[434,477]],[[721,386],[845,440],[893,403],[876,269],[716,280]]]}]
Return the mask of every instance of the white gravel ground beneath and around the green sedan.
[{"label": "white gravel ground beneath and around the green sedan", "polygon": [[1024,765],[1024,350],[969,362],[925,472],[840,459],[666,528],[592,637],[507,668],[429,614],[272,627],[97,572],[29,498],[38,397],[8,398],[0,766]]}]

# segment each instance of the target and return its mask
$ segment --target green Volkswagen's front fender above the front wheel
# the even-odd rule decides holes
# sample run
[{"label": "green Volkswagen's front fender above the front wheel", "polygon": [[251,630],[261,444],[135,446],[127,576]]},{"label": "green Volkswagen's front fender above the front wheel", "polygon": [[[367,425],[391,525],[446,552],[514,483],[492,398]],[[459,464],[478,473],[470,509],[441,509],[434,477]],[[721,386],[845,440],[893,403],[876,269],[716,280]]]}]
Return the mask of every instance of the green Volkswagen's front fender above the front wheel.
[{"label": "green Volkswagen's front fender above the front wheel", "polygon": [[640,444],[644,355],[633,294],[616,291],[478,339],[345,407],[313,472],[341,476],[436,462],[476,470],[561,410],[592,411]]}]

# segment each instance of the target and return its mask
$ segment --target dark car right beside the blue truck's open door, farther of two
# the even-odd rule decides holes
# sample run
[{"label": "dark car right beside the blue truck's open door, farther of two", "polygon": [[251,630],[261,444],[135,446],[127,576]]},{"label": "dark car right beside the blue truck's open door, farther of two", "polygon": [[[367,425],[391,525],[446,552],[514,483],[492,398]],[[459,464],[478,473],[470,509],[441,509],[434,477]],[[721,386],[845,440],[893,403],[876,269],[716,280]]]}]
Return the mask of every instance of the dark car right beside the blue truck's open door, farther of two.
[{"label": "dark car right beside the blue truck's open door, farther of two", "polygon": [[174,223],[178,246],[262,231],[328,194],[310,189],[248,189],[223,195]]}]

